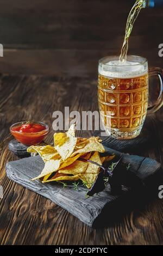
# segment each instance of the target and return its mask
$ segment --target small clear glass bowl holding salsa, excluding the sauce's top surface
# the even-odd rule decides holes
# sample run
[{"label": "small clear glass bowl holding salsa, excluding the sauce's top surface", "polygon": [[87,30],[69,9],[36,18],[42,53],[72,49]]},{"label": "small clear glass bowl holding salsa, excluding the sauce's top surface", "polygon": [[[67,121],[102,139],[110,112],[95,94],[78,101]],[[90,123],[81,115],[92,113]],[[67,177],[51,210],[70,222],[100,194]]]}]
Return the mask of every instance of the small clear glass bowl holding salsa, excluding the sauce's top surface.
[{"label": "small clear glass bowl holding salsa, excluding the sauce's top surface", "polygon": [[49,126],[43,122],[40,121],[30,121],[29,123],[32,124],[40,124],[45,126],[45,130],[39,131],[39,132],[20,132],[20,131],[14,131],[12,130],[13,127],[21,126],[23,124],[27,124],[28,121],[21,121],[15,124],[12,124],[10,126],[10,132],[14,136],[14,138],[27,146],[30,145],[37,145],[43,141],[43,139],[46,137],[47,133],[49,132]]}]

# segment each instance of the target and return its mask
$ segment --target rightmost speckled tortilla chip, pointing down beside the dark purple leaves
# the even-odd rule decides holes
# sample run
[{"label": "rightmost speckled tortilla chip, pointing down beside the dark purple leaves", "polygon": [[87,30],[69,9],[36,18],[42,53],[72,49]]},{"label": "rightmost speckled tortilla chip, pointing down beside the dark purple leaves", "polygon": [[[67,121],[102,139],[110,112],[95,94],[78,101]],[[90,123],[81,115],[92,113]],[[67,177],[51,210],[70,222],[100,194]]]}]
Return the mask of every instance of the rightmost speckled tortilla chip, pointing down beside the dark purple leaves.
[{"label": "rightmost speckled tortilla chip, pointing down beside the dark purple leaves", "polygon": [[[101,162],[98,152],[95,152],[90,157],[90,160],[102,165],[102,162]],[[96,180],[96,177],[97,177],[99,171],[100,171],[99,166],[97,166],[94,163],[88,162],[88,166],[87,166],[85,173],[79,174],[79,179],[81,179],[83,182],[85,182],[87,188],[91,188],[91,186],[93,185],[93,183]]]}]

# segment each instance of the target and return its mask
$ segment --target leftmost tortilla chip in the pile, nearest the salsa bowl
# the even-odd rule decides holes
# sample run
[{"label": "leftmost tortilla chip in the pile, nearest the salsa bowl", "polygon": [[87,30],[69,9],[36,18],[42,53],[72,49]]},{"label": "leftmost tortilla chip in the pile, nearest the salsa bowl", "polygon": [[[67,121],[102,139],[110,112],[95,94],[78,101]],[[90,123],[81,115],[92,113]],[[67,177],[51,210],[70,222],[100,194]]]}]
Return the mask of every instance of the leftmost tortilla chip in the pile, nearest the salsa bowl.
[{"label": "leftmost tortilla chip in the pile, nearest the salsa bowl", "polygon": [[60,159],[60,155],[58,154],[57,150],[51,145],[46,145],[41,147],[30,146],[29,148],[27,148],[27,152],[38,153],[41,156],[43,162]]}]

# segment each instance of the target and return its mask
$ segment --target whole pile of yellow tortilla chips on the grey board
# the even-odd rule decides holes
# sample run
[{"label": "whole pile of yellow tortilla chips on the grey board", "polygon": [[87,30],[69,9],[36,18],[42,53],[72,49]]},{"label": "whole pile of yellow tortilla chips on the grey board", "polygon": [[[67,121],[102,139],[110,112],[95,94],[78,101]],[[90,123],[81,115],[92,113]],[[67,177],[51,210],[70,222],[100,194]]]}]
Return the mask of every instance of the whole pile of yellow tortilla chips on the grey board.
[{"label": "whole pile of yellow tortilla chips on the grey board", "polygon": [[40,179],[43,183],[80,179],[90,188],[101,168],[86,160],[101,165],[105,160],[105,157],[99,155],[105,151],[99,137],[76,138],[74,125],[66,133],[54,133],[54,147],[31,146],[27,151],[38,153],[45,162],[41,174],[33,179]]}]

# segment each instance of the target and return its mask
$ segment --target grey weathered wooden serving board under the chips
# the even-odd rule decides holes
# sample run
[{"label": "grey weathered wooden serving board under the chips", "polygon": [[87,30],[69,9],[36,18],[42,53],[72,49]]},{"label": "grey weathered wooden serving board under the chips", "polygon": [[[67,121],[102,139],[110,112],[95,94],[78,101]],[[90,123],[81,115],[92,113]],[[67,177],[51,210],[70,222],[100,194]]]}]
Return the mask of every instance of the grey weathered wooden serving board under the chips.
[{"label": "grey weathered wooden serving board under the chips", "polygon": [[[112,153],[120,154],[114,150],[112,150]],[[129,161],[131,162],[131,171],[143,180],[160,168],[160,164],[152,159],[123,154],[123,162],[127,163]],[[90,226],[106,209],[106,205],[114,205],[113,202],[116,202],[117,199],[120,201],[124,194],[129,191],[129,188],[123,186],[121,196],[114,196],[111,194],[110,185],[107,184],[103,192],[86,198],[87,189],[85,187],[79,187],[78,191],[74,191],[72,187],[63,188],[57,182],[42,184],[39,180],[31,181],[30,179],[41,173],[43,166],[44,163],[40,156],[27,157],[7,163],[6,172],[11,180],[51,199]]]}]

